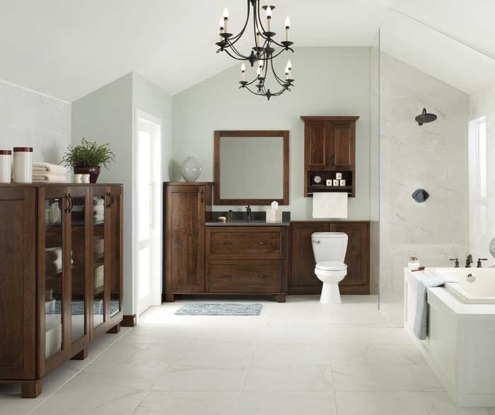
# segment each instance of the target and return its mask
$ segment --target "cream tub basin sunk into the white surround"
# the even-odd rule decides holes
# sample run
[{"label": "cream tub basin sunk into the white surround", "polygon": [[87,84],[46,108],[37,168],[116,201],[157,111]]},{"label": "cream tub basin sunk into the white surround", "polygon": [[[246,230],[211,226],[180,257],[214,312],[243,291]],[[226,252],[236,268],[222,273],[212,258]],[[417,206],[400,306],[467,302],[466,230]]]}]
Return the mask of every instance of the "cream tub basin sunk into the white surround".
[{"label": "cream tub basin sunk into the white surround", "polygon": [[459,284],[445,287],[462,303],[495,304],[495,268],[438,268],[436,272],[458,280]]}]

